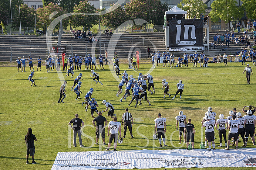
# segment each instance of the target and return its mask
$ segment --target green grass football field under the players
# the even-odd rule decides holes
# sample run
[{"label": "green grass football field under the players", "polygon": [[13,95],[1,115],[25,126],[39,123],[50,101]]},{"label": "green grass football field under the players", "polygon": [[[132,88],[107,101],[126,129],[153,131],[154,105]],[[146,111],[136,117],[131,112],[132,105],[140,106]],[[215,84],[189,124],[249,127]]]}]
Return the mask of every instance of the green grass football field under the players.
[{"label": "green grass football field under the players", "polygon": [[[154,119],[158,113],[162,113],[162,117],[166,118],[166,144],[167,148],[162,149],[177,149],[180,147],[178,140],[178,131],[176,131],[175,117],[179,111],[183,111],[184,115],[192,119],[195,125],[195,148],[199,149],[201,143],[201,121],[208,107],[212,107],[213,111],[219,114],[228,116],[229,110],[237,108],[242,112],[244,105],[256,105],[256,79],[254,74],[251,76],[251,84],[246,84],[245,74],[242,74],[245,66],[241,63],[228,63],[228,67],[224,67],[224,63],[209,63],[209,67],[156,67],[151,75],[154,78],[156,94],[148,94],[148,99],[152,106],[142,100],[142,105],[135,109],[135,101],[128,107],[129,101],[119,102],[120,97],[115,94],[118,91],[117,80],[113,77],[108,67],[105,65],[105,70],[96,70],[100,74],[100,81],[104,84],[95,84],[90,77],[90,70],[74,71],[76,77],[78,73],[82,73],[83,80],[81,95],[84,98],[87,91],[93,87],[94,93],[92,97],[99,103],[98,110],[105,109],[102,105],[102,100],[109,101],[115,107],[118,121],[121,121],[121,115],[125,108],[129,108],[129,112],[134,117],[133,133],[135,138],[130,138],[129,133],[122,144],[117,146],[117,150],[137,150],[137,149],[158,149],[153,147],[153,142],[156,146],[159,145],[158,140],[152,140],[154,133]],[[256,72],[252,63],[253,73]],[[189,63],[190,66],[192,64]],[[121,72],[125,69],[127,73],[132,74],[135,78],[138,73],[146,74],[151,67],[150,64],[139,65],[139,71],[126,69],[127,65],[119,66]],[[112,67],[112,65],[111,65]],[[82,66],[84,69],[84,65]],[[106,69],[107,68],[107,69]],[[35,68],[36,70],[36,68]],[[59,98],[59,89],[61,81],[57,72],[46,73],[45,67],[42,67],[41,72],[35,72],[33,79],[37,86],[31,87],[28,81],[30,74],[29,67],[26,67],[27,72],[17,72],[16,67],[0,67],[0,136],[1,136],[1,153],[0,165],[3,169],[41,169],[49,170],[54,163],[58,152],[69,151],[98,151],[99,145],[93,145],[91,148],[73,148],[73,132],[69,131],[68,122],[74,118],[76,113],[85,122],[86,126],[83,132],[95,139],[95,128],[91,127],[92,117],[90,111],[85,112],[81,105],[83,99],[75,101],[76,94],[71,91],[74,78],[67,77],[67,97],[65,103],[57,103]],[[65,72],[63,72],[65,76]],[[176,83],[182,80],[185,84],[182,100],[179,96],[175,100],[166,97],[163,99],[162,79],[165,78],[169,83],[169,93],[174,96],[176,93]],[[124,93],[122,93],[124,94]],[[128,98],[131,100],[131,97]],[[242,113],[242,115],[244,115]],[[108,121],[106,113],[103,113]],[[90,126],[89,126],[90,125]],[[35,142],[36,153],[35,160],[37,164],[26,164],[26,144],[24,136],[27,133],[27,128],[33,129],[33,134],[36,135]],[[123,132],[123,129],[122,129]],[[146,146],[146,139],[140,136],[139,133],[145,135],[149,139],[149,144]],[[68,140],[71,138],[71,140]],[[203,139],[204,141],[204,135]],[[100,139],[101,141],[101,139]],[[78,142],[78,139],[77,139]],[[95,143],[89,138],[82,136],[82,142],[85,146],[90,146]],[[108,142],[108,137],[106,137]],[[171,144],[173,143],[173,145]],[[71,143],[71,145],[69,145]],[[218,132],[215,129],[215,143],[219,146]],[[69,147],[71,146],[71,147]],[[137,146],[140,146],[137,147]],[[142,148],[144,146],[144,148]],[[239,148],[242,142],[239,142]],[[252,146],[249,139],[248,147]],[[100,145],[102,147],[102,145]],[[231,148],[233,148],[231,146]],[[185,149],[185,145],[180,149]],[[29,159],[31,163],[31,156]],[[164,168],[162,168],[164,169]],[[184,168],[182,168],[184,169]],[[192,168],[195,169],[195,168]],[[207,168],[204,168],[204,170]],[[208,168],[208,170],[219,170],[223,168]],[[227,170],[240,168],[226,168]],[[247,168],[247,169],[254,169]],[[177,168],[177,170],[181,170]]]}]

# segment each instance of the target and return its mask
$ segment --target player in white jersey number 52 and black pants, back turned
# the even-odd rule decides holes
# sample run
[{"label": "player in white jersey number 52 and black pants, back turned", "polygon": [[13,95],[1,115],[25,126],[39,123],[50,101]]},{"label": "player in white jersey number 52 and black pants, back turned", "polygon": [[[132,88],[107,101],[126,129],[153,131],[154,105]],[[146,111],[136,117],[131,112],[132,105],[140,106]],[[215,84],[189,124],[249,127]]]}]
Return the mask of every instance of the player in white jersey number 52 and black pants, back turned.
[{"label": "player in white jersey number 52 and black pants, back turned", "polygon": [[203,122],[202,127],[205,127],[205,136],[208,140],[208,146],[206,150],[210,150],[211,142],[213,146],[213,150],[215,150],[215,142],[214,142],[214,125],[215,120],[210,120],[210,117],[206,115],[206,121]]}]

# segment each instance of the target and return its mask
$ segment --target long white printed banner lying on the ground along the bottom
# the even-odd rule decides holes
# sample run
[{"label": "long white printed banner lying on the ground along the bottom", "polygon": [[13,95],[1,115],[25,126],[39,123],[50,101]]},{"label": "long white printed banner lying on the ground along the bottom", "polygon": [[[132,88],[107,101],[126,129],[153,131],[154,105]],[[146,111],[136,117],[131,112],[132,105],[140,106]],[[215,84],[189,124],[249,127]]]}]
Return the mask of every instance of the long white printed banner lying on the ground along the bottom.
[{"label": "long white printed banner lying on the ground along the bottom", "polygon": [[256,167],[256,149],[58,152],[51,170]]}]

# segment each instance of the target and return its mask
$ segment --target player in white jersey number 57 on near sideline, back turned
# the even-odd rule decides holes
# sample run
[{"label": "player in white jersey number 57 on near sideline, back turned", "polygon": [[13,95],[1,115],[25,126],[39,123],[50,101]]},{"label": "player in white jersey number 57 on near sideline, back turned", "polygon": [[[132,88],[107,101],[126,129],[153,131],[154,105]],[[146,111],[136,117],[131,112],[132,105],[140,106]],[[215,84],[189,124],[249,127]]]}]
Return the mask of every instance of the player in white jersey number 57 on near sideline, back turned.
[{"label": "player in white jersey number 57 on near sideline, back turned", "polygon": [[119,137],[121,138],[121,123],[117,122],[117,117],[114,117],[113,121],[108,123],[108,136],[110,136],[110,140],[108,142],[108,148],[106,150],[110,150],[111,143],[114,139],[114,152],[117,148],[117,140],[118,140],[118,132]]}]

